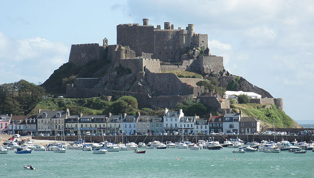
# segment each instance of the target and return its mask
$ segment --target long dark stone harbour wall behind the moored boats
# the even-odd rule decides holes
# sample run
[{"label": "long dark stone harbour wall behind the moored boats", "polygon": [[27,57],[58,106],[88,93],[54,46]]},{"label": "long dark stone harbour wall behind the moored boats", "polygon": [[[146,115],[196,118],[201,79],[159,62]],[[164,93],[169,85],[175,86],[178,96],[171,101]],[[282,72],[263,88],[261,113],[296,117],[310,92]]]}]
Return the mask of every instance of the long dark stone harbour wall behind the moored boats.
[{"label": "long dark stone harbour wall behind the moored boats", "polygon": [[[291,135],[285,135],[285,136],[274,136],[274,135],[197,135],[197,140],[215,140],[219,141],[219,143],[223,143],[224,141],[230,140],[230,138],[239,138],[245,142],[261,142],[262,140],[271,140],[275,142],[279,142],[281,140],[287,140],[289,142],[292,142],[294,140],[297,141],[306,141],[310,142],[311,140],[314,140],[314,136],[291,136]],[[56,138],[54,136],[33,136],[32,139],[38,139],[38,140],[64,140],[63,137],[57,136]],[[113,142],[113,143],[123,143],[127,142],[153,142],[155,140],[160,142],[178,142],[182,140],[182,135],[117,135],[117,136],[82,136],[82,139],[85,140],[87,143],[95,142],[100,143],[104,140]],[[78,136],[65,136],[65,141],[76,141],[78,140]],[[195,135],[184,135],[184,141],[190,141],[192,143],[197,142],[195,139]]]}]

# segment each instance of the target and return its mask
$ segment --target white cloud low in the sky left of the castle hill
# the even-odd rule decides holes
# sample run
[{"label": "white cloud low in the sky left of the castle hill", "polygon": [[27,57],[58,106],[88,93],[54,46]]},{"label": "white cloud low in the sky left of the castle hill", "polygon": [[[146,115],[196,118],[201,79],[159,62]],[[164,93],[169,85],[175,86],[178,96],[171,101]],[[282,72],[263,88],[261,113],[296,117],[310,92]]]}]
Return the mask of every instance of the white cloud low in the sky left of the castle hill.
[{"label": "white cloud low in the sky left of the castle hill", "polygon": [[0,32],[0,84],[26,79],[44,82],[63,63],[70,47],[40,37],[16,40]]}]

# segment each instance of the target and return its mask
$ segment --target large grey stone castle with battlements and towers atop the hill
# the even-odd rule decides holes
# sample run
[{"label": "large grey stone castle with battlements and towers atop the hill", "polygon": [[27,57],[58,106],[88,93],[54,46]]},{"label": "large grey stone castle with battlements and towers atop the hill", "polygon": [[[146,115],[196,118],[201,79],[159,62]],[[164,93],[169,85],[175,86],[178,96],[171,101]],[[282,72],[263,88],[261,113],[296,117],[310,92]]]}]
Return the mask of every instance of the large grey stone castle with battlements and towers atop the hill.
[{"label": "large grey stone castle with battlements and towers atop the hill", "polygon": [[[110,96],[117,99],[130,95],[137,99],[139,107],[175,107],[187,97],[200,97],[206,93],[196,82],[202,78],[180,78],[166,71],[189,71],[202,75],[225,75],[223,57],[211,55],[208,35],[196,34],[193,24],[185,29],[174,29],[169,22],[164,29],[157,25],[117,25],[117,45],[72,45],[69,62],[82,66],[92,61],[110,62],[109,74],[102,78],[77,78],[67,85],[67,98]],[[118,76],[114,71],[121,67],[130,74]],[[209,96],[211,97],[211,96]],[[213,100],[211,100],[213,101]],[[210,104],[209,104],[210,105]],[[229,103],[211,106],[230,109]]]}]

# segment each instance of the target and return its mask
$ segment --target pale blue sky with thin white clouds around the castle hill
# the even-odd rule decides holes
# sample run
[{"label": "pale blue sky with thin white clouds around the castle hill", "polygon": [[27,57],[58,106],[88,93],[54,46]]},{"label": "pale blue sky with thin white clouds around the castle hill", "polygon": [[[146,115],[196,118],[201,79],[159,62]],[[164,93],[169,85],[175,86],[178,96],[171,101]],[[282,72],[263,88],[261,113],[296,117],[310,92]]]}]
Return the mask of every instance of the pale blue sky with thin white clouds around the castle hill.
[{"label": "pale blue sky with thin white clouds around the castle hill", "polygon": [[299,124],[314,124],[313,0],[1,0],[0,84],[43,83],[72,44],[116,44],[116,25],[143,18],[194,24],[227,71],[283,98]]}]

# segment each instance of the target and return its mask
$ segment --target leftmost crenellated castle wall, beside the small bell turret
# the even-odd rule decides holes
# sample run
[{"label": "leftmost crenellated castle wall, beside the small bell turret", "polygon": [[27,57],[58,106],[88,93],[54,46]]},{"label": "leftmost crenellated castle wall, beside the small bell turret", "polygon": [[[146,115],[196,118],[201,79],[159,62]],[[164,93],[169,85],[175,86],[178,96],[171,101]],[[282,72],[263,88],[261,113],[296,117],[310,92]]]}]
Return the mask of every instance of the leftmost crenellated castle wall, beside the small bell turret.
[{"label": "leftmost crenellated castle wall, beside the small bell turret", "polygon": [[105,47],[98,43],[72,45],[69,62],[82,66],[92,60],[104,60],[106,55]]}]

